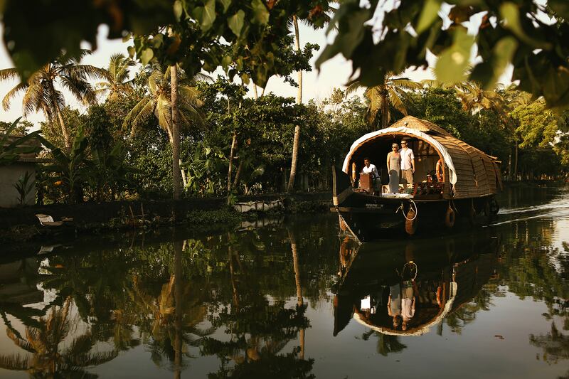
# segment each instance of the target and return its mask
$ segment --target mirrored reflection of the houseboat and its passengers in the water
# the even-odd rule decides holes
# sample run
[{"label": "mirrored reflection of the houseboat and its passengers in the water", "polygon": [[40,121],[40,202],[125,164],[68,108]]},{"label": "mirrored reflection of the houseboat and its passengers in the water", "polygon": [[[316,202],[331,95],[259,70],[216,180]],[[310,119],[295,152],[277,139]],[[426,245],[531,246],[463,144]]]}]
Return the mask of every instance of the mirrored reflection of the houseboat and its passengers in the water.
[{"label": "mirrored reflection of the houseboat and its passengers in the water", "polygon": [[459,248],[454,239],[359,245],[346,238],[340,247],[334,336],[351,319],[395,336],[421,335],[440,324],[494,275],[499,240],[477,241],[464,240]]}]

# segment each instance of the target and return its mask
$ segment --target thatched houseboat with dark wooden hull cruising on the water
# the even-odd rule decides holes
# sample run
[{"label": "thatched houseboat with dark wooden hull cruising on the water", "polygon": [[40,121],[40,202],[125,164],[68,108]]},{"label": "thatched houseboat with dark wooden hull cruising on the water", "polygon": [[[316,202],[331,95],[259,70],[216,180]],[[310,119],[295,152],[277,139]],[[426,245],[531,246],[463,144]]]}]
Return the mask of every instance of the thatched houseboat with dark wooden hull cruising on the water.
[{"label": "thatched houseboat with dark wooden hull cruising on the water", "polygon": [[[395,188],[388,186],[386,156],[392,144],[402,140],[415,156],[414,183],[400,184],[398,193],[390,193]],[[365,158],[376,165],[381,189],[373,188],[371,174],[361,173]],[[404,117],[353,142],[343,172],[334,169],[333,201],[341,228],[368,240],[378,230],[402,224],[413,235],[420,223],[452,228],[458,216],[471,222],[477,215],[489,217],[498,212],[494,195],[501,189],[501,174],[497,163],[495,157],[431,122]],[[440,181],[434,174],[437,164]]]}]

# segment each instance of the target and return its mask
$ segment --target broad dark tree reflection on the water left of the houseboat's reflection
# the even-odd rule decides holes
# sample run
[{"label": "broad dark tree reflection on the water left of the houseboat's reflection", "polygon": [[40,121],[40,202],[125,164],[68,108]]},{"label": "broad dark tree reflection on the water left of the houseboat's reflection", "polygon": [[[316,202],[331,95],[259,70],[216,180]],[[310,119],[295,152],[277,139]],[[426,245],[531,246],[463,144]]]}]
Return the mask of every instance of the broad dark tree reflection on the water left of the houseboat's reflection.
[{"label": "broad dark tree reflection on the water left of the houseboat's reflection", "polygon": [[[124,241],[87,254],[52,255],[34,280],[53,301],[46,309],[22,307],[33,312],[19,318],[38,327],[55,317],[37,318],[48,307],[72,304],[77,314],[72,330],[87,330],[93,343],[112,343],[108,359],[142,343],[154,363],[175,377],[196,355],[219,359],[213,377],[250,372],[310,377],[303,292],[309,301],[326,297],[324,283],[335,269],[321,260],[335,240],[311,240],[314,233],[312,227],[267,228],[146,246]],[[302,343],[295,343],[301,334]],[[26,363],[42,369],[36,361],[18,359],[11,361],[13,368]],[[55,370],[63,373],[65,367]]]}]

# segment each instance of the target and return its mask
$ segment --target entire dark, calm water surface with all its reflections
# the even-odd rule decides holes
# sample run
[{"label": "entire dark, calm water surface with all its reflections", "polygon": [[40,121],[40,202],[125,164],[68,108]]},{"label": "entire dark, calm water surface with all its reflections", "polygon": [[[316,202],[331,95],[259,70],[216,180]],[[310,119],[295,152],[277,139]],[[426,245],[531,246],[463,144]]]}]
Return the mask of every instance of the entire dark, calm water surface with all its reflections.
[{"label": "entire dark, calm water surface with all its reflections", "polygon": [[0,377],[566,377],[569,188],[500,203],[361,246],[324,215],[25,252],[0,265]]}]

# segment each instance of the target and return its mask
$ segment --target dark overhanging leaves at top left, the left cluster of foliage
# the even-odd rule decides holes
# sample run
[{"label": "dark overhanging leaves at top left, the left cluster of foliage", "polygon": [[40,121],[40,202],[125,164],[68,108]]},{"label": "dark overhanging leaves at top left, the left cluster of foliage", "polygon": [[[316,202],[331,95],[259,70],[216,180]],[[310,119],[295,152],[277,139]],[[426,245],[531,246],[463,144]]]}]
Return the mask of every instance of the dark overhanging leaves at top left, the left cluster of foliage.
[{"label": "dark overhanging leaves at top left, the left cluster of foliage", "polygon": [[48,0],[31,9],[0,1],[4,43],[24,79],[60,50],[78,54],[82,40],[95,49],[97,27],[107,24],[110,38],[134,35],[129,54],[144,65],[153,58],[163,67],[180,63],[189,77],[223,67],[262,87],[280,75],[289,18],[296,14],[321,27],[328,10],[321,0]]}]

